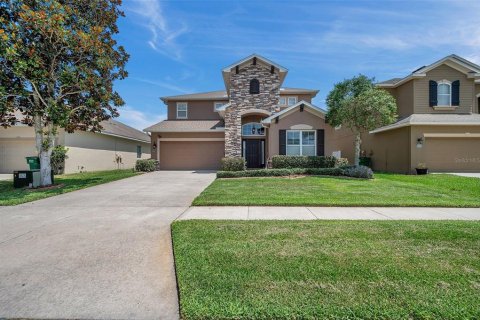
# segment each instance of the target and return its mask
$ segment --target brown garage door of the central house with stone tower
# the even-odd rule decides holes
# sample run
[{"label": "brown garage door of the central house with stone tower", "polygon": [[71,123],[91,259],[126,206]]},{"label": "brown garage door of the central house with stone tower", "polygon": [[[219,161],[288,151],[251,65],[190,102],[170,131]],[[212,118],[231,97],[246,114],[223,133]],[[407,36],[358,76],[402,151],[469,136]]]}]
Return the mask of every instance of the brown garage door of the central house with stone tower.
[{"label": "brown garage door of the central house with stone tower", "polygon": [[224,153],[223,141],[161,141],[160,169],[218,169]]}]

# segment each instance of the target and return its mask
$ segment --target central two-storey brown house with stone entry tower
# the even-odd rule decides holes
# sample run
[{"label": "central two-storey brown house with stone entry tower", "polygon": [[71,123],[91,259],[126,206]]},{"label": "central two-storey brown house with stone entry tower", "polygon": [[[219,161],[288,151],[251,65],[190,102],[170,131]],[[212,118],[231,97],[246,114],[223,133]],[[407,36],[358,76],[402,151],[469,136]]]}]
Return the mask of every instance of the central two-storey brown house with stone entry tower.
[{"label": "central two-storey brown house with stone entry tower", "polygon": [[161,169],[217,169],[220,159],[244,157],[262,168],[274,155],[353,158],[353,138],[325,123],[312,105],[317,90],[282,88],[287,69],[251,55],[222,70],[226,90],[163,97],[167,120],[151,133]]}]

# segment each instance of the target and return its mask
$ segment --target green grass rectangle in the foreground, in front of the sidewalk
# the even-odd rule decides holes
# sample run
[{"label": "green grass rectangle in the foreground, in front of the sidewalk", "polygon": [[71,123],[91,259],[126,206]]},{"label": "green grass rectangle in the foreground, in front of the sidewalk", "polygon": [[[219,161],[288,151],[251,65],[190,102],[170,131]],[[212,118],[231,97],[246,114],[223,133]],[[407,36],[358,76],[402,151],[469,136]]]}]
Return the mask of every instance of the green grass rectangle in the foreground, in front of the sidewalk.
[{"label": "green grass rectangle in the foreground, in front of the sidewalk", "polygon": [[480,222],[182,221],[184,319],[479,319]]}]

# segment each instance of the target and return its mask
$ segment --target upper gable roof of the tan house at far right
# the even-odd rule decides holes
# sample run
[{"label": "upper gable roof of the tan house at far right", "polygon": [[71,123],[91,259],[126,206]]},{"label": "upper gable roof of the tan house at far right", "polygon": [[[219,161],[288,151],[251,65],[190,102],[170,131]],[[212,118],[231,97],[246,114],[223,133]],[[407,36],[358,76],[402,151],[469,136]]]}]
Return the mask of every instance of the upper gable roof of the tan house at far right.
[{"label": "upper gable roof of the tan house at far right", "polygon": [[425,77],[427,72],[435,69],[442,64],[446,64],[452,68],[455,68],[465,73],[468,78],[475,79],[475,83],[480,83],[480,66],[471,61],[468,61],[467,59],[457,56],[456,54],[451,54],[449,56],[446,56],[445,58],[435,61],[432,64],[429,64],[428,66],[418,68],[404,78],[393,78],[390,80],[382,81],[377,83],[377,86],[380,88],[396,88],[412,79]]}]

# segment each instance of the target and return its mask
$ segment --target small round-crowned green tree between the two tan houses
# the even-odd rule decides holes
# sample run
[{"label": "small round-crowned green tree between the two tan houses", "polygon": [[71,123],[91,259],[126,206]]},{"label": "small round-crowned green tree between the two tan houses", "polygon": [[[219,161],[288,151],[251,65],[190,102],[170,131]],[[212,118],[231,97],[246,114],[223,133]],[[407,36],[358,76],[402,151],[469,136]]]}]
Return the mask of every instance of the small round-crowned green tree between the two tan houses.
[{"label": "small round-crowned green tree between the two tan houses", "polygon": [[327,97],[327,121],[345,126],[355,134],[355,165],[360,162],[361,133],[393,123],[397,118],[395,98],[375,88],[373,79],[359,75],[335,84]]}]

